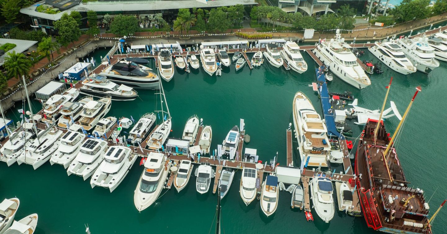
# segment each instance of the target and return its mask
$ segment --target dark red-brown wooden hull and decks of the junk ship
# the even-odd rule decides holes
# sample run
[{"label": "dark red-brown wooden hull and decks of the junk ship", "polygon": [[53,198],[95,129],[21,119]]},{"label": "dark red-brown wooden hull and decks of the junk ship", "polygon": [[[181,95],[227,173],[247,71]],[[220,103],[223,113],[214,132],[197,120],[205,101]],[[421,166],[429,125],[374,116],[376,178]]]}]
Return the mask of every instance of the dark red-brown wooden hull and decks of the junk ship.
[{"label": "dark red-brown wooden hull and decks of the junk ship", "polygon": [[355,156],[355,174],[362,174],[357,176],[357,192],[367,226],[386,233],[431,234],[423,191],[407,187],[396,149],[385,152],[390,138],[383,121],[374,142],[377,124],[367,121]]}]

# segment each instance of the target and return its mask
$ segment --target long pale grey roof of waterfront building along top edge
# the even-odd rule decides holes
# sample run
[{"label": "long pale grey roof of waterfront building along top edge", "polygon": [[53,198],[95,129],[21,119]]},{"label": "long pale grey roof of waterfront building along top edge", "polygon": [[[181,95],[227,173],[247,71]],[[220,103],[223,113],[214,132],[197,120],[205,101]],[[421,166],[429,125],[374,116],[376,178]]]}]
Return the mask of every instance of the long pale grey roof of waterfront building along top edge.
[{"label": "long pale grey roof of waterfront building along top edge", "polygon": [[64,12],[71,11],[88,12],[93,10],[96,12],[123,12],[123,11],[156,11],[169,10],[179,8],[206,8],[206,7],[222,7],[233,6],[236,4],[252,5],[257,4],[254,0],[214,0],[203,3],[198,0],[127,0],[127,1],[91,1],[87,4],[78,4],[68,10],[57,14],[46,14],[36,11],[39,4],[44,4],[45,1],[40,1],[29,7],[21,8],[20,13],[57,21],[62,17]]}]

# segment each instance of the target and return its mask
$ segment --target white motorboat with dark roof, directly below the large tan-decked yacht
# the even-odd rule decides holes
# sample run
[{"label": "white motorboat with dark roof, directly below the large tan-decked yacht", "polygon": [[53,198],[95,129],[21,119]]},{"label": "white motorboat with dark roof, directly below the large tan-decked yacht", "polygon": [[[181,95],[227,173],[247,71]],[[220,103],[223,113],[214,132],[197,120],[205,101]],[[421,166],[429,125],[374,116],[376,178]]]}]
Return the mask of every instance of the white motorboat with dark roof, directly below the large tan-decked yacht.
[{"label": "white motorboat with dark roof, directly below the large tan-decked yacht", "polygon": [[318,216],[325,222],[334,217],[335,207],[333,201],[332,181],[324,172],[318,172],[310,182],[311,199]]}]

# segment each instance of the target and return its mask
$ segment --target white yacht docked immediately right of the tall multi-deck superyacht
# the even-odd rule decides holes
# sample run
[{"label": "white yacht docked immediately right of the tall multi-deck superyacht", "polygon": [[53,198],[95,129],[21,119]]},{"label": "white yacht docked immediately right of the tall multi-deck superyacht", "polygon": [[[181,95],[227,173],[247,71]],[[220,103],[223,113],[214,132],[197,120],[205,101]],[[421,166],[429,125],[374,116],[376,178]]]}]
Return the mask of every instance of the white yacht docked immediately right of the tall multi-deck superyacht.
[{"label": "white yacht docked immediately right of the tall multi-deck superyacht", "polygon": [[402,47],[394,40],[375,42],[374,46],[368,48],[368,50],[394,71],[404,75],[417,71],[413,63],[405,57]]}]

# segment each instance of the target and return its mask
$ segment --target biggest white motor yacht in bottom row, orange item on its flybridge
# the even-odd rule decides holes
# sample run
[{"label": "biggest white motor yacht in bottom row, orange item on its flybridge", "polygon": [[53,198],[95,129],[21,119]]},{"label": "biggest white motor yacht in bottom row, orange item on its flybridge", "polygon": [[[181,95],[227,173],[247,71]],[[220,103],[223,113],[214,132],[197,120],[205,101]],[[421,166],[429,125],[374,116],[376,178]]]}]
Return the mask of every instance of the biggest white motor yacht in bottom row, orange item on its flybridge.
[{"label": "biggest white motor yacht in bottom row, orange item on its flybridge", "polygon": [[166,160],[166,155],[149,153],[134,193],[134,203],[138,211],[148,208],[155,202],[163,189],[170,167],[171,163]]}]

